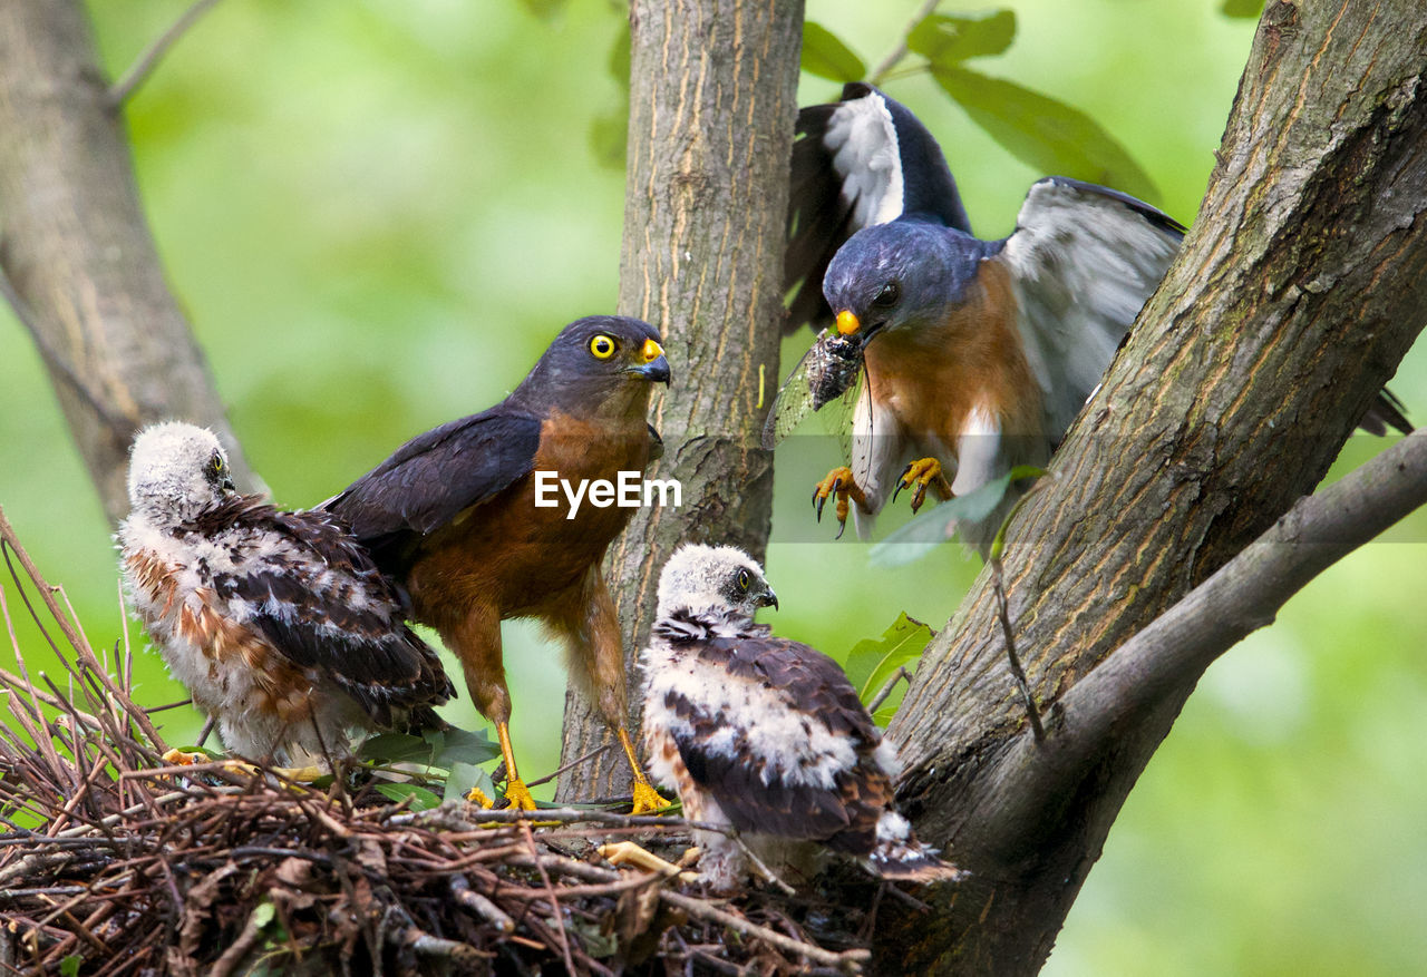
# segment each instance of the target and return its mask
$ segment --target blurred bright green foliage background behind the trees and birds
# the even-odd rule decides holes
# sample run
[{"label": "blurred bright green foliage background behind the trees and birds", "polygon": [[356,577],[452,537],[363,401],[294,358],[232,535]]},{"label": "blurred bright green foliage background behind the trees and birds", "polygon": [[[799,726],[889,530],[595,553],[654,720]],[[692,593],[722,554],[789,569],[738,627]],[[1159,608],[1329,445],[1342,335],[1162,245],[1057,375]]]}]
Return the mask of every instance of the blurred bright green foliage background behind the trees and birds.
[{"label": "blurred bright green foliage background behind the trees and birds", "polygon": [[[107,70],[187,3],[91,3]],[[875,63],[916,6],[811,0],[809,17]],[[1210,0],[1007,6],[1017,39],[977,67],[1087,111],[1187,222],[1253,21]],[[134,98],[136,167],[170,281],[278,503],[313,505],[412,434],[489,405],[564,322],[612,311],[622,174],[596,164],[589,134],[621,111],[606,66],[622,30],[616,6],[588,0],[547,19],[514,3],[230,0]],[[888,88],[942,140],[977,231],[1009,232],[1042,174],[928,77]],[[802,101],[836,90],[805,76]],[[0,503],[91,640],[113,645],[111,526],[39,357],[0,315]],[[789,341],[785,362],[805,345]],[[1394,389],[1427,418],[1421,347]],[[1354,436],[1340,469],[1383,444]],[[775,538],[819,539],[795,468],[779,468]],[[1210,669],[1130,796],[1047,973],[1421,970],[1423,541],[1420,513]],[[849,541],[775,542],[779,630],[843,653],[899,610],[939,625],[979,568],[956,548],[892,571],[870,569],[866,553]],[[21,628],[21,640],[41,667],[34,635]],[[529,777],[558,755],[557,662],[534,628],[507,625]],[[183,697],[154,656],[141,663],[141,700]],[[448,716],[477,725],[464,689]],[[163,719],[174,742],[200,725]]]}]

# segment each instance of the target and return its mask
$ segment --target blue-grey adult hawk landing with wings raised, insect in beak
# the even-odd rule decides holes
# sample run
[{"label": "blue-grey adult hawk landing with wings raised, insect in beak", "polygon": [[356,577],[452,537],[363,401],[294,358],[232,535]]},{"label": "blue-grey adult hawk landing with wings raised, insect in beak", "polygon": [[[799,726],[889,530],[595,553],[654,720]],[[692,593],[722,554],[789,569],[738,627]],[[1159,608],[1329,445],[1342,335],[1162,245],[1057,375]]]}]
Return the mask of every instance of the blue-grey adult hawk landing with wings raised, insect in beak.
[{"label": "blue-grey adult hawk landing with wings raised, insect in beak", "polygon": [[[1116,190],[1046,177],[1016,230],[970,232],[930,133],[866,84],[799,113],[789,208],[791,324],[826,325],[866,364],[848,466],[813,493],[860,535],[889,498],[966,495],[1045,465],[1100,382],[1184,228]],[[855,371],[839,371],[848,384]],[[828,399],[829,391],[822,391]],[[1390,394],[1364,419],[1410,431]],[[959,526],[983,551],[1013,498]]]}]

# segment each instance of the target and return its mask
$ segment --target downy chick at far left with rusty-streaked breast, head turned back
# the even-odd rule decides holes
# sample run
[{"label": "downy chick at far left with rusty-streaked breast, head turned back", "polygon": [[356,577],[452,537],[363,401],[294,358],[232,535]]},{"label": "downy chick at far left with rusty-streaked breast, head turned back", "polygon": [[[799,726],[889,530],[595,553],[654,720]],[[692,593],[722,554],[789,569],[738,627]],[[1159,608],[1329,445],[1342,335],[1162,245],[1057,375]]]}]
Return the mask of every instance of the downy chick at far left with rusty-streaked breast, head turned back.
[{"label": "downy chick at far left with rusty-streaked breast, head turned back", "polygon": [[335,516],[238,495],[213,432],[178,422],[134,439],[128,501],[134,609],[230,750],[321,766],[352,727],[440,722],[441,662]]}]

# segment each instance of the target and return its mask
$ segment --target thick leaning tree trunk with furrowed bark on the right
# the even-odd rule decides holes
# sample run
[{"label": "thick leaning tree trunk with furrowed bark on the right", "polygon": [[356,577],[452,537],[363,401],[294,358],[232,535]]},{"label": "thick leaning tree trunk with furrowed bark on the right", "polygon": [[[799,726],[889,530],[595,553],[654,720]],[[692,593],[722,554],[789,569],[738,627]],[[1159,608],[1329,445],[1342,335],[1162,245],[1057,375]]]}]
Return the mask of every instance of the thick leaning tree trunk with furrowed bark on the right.
[{"label": "thick leaning tree trunk with furrowed bark on the right", "polygon": [[[1184,254],[1010,529],[1017,649],[1052,739],[1057,699],[1311,491],[1421,329],[1424,66],[1410,3],[1264,11]],[[983,575],[890,730],[919,833],[975,877],[936,926],[888,920],[879,958],[1039,968],[1194,680],[1076,745],[1056,789],[1027,797]]]}]

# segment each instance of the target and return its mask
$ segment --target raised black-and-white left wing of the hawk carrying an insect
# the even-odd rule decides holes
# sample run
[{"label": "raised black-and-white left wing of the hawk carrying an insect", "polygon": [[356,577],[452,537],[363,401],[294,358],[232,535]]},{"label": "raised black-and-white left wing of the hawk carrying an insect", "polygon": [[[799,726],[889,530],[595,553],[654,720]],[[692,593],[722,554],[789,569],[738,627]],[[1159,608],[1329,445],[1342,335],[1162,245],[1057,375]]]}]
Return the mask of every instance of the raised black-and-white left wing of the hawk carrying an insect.
[{"label": "raised black-and-white left wing of the hawk carrying an insect", "polygon": [[838,248],[863,227],[903,214],[970,232],[946,157],[910,110],[852,83],[842,101],[798,113],[783,257],[785,287],[798,287],[789,331],[803,322],[819,328],[831,317],[822,277]]}]

